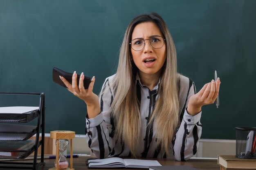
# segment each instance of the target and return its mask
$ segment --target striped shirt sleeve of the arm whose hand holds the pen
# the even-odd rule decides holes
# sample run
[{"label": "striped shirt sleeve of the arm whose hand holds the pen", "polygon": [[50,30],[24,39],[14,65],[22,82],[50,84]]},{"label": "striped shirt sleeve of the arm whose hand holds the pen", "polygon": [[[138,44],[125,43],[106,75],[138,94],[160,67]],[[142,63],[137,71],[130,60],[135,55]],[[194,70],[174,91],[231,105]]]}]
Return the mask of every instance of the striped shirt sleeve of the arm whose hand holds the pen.
[{"label": "striped shirt sleeve of the arm whose hand holds the pen", "polygon": [[189,98],[196,93],[195,84],[189,79],[189,90],[184,93],[186,100],[180,127],[173,139],[173,154],[177,161],[186,161],[197,152],[199,139],[202,134],[202,125],[200,118],[202,111],[195,116],[187,113],[186,108],[189,103]]}]

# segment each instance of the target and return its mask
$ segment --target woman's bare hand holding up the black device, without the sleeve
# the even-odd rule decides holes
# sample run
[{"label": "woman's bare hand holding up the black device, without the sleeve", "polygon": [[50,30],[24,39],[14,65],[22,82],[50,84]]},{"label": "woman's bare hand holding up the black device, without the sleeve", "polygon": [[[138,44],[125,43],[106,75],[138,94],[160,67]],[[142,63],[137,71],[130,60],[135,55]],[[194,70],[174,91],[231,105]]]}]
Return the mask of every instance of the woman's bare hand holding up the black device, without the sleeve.
[{"label": "woman's bare hand holding up the black device, without the sleeve", "polygon": [[98,95],[96,95],[92,92],[93,85],[95,82],[94,76],[92,77],[92,81],[90,82],[88,89],[85,89],[83,86],[83,79],[84,79],[83,73],[81,73],[81,75],[80,75],[78,86],[76,83],[76,79],[77,79],[76,71],[74,71],[74,74],[72,76],[72,84],[70,84],[64,77],[60,76],[60,79],[67,86],[68,91],[70,91],[76,97],[79,97],[86,103],[88,118],[94,118],[97,115],[99,115],[99,113],[101,112],[101,109],[99,106],[99,97],[98,97]]}]

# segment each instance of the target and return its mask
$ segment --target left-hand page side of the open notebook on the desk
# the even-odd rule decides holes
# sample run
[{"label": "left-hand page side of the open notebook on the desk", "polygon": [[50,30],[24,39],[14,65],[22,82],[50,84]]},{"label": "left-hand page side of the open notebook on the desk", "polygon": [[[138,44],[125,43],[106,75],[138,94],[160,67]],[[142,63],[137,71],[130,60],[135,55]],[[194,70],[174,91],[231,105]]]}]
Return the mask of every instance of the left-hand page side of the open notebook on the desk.
[{"label": "left-hand page side of the open notebook on the desk", "polygon": [[106,158],[106,159],[92,159],[88,161],[89,167],[125,167],[124,160],[121,158],[113,157],[113,158]]}]

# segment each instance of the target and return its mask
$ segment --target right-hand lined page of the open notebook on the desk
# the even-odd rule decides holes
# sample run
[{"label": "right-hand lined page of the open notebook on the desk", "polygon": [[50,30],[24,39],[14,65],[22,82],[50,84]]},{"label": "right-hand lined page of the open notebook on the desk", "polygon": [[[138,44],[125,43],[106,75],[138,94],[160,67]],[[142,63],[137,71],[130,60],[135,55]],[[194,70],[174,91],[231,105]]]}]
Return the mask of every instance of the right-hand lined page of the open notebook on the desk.
[{"label": "right-hand lined page of the open notebook on the desk", "polygon": [[148,168],[149,166],[162,166],[158,161],[143,159],[124,159],[127,168]]}]

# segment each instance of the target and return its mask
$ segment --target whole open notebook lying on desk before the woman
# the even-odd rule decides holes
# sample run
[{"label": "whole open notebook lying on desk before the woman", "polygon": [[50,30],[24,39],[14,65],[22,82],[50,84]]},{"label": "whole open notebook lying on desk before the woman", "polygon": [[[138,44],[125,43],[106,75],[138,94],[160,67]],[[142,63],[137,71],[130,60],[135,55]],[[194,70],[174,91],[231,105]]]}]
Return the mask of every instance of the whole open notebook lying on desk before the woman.
[{"label": "whole open notebook lying on desk before the woman", "polygon": [[106,159],[92,159],[88,161],[89,168],[144,168],[161,166],[158,161],[142,159],[122,159],[118,157]]}]

